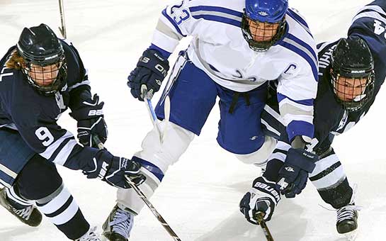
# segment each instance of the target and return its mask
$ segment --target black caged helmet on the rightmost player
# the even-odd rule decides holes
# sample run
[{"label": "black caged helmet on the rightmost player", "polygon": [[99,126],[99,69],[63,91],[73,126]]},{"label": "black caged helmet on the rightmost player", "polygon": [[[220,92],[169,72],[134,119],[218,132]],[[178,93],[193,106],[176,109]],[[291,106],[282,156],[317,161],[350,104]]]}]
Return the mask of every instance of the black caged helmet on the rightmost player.
[{"label": "black caged helmet on the rightmost player", "polygon": [[[347,79],[351,79],[350,82]],[[374,60],[364,40],[339,40],[331,56],[331,84],[336,99],[348,111],[358,111],[373,98]],[[348,99],[342,97],[350,95],[351,98]]]}]

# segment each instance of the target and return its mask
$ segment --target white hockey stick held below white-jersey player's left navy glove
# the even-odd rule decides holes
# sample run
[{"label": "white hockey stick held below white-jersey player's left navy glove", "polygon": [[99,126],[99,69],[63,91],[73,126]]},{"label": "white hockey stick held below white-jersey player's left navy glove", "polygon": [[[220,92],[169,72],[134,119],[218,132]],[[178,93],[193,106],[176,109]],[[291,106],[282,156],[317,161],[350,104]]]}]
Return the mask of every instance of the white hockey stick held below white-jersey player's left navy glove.
[{"label": "white hockey stick held below white-jersey player's left navy glove", "polygon": [[144,99],[144,103],[145,103],[146,108],[147,108],[147,112],[149,113],[150,120],[152,120],[154,129],[158,133],[159,141],[161,143],[163,143],[165,140],[166,130],[168,127],[169,116],[170,116],[170,99],[169,99],[169,96],[166,96],[166,98],[165,98],[165,103],[164,103],[165,127],[164,127],[164,131],[161,131],[161,127],[159,126],[157,115],[154,112],[154,108],[152,106],[152,101],[150,100],[150,99],[152,99],[152,94],[150,94],[147,91],[147,86],[144,84],[142,84],[142,86],[141,86],[141,93],[142,93],[142,98]]}]

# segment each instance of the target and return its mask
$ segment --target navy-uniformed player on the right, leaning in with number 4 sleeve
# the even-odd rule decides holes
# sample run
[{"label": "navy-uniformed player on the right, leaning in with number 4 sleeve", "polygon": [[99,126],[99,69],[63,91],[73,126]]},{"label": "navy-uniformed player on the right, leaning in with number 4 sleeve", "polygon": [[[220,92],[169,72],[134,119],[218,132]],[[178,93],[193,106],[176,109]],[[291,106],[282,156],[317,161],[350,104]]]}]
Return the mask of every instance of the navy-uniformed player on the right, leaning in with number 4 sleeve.
[{"label": "navy-uniformed player on the right, leaning in with number 4 sleeve", "polygon": [[[317,45],[319,85],[314,101],[315,138],[311,148],[320,160],[310,175],[303,172],[302,178],[293,176],[302,171],[288,162],[292,154],[281,123],[283,120],[278,116],[280,103],[275,96],[267,101],[262,123],[271,135],[276,138],[281,135],[266,172],[254,180],[253,188],[240,203],[240,210],[249,222],[256,223],[254,215],[258,211],[270,220],[280,200],[279,191],[294,197],[304,189],[309,177],[322,199],[336,208],[338,232],[348,236],[354,234],[352,231],[358,227],[355,190],[348,183],[331,143],[334,135],[346,132],[365,116],[385,80],[385,16],[385,1],[373,1],[354,16],[347,38]],[[294,172],[286,171],[290,168]],[[295,185],[287,185],[288,180],[293,179]]]}]

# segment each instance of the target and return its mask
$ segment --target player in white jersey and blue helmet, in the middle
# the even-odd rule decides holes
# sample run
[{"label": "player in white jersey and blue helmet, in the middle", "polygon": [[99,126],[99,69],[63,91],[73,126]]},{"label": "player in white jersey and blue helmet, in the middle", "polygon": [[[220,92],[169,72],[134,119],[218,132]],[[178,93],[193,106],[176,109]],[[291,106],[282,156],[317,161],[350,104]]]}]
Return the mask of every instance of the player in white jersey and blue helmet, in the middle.
[{"label": "player in white jersey and blue helmet, in the middle", "polygon": [[[297,162],[305,152],[305,140],[314,136],[312,102],[317,91],[316,46],[302,17],[288,9],[287,0],[185,0],[168,6],[152,45],[128,77],[132,96],[143,100],[143,86],[149,94],[159,90],[169,70],[167,58],[187,35],[193,36],[191,45],[176,60],[172,83],[156,107],[158,118],[164,119],[164,96],[169,95],[171,123],[166,139],[160,143],[157,132],[150,131],[133,157],[147,176],[141,186],[144,194],[154,194],[168,167],[200,134],[217,96],[219,145],[243,162],[264,162],[276,142],[265,138],[256,121],[270,79],[280,82],[280,113],[287,121]],[[104,235],[127,240],[134,215],[143,206],[134,191],[118,191],[118,205],[103,225]]]}]

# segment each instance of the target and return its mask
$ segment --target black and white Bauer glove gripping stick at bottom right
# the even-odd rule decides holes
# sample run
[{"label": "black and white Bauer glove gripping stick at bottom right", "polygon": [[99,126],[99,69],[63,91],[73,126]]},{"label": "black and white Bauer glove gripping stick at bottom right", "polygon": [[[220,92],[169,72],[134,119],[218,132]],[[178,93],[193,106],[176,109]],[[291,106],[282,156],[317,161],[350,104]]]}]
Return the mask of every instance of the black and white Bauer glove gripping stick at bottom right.
[{"label": "black and white Bauer glove gripping stick at bottom right", "polygon": [[251,190],[244,195],[239,206],[249,223],[258,224],[256,213],[261,212],[264,220],[271,220],[279,201],[280,194],[275,188],[275,182],[259,176],[254,180]]}]

